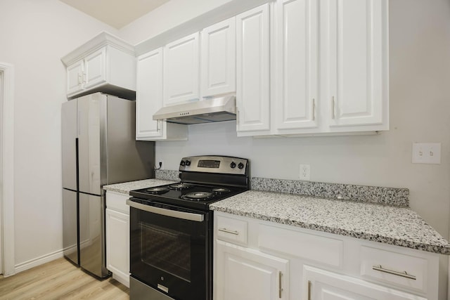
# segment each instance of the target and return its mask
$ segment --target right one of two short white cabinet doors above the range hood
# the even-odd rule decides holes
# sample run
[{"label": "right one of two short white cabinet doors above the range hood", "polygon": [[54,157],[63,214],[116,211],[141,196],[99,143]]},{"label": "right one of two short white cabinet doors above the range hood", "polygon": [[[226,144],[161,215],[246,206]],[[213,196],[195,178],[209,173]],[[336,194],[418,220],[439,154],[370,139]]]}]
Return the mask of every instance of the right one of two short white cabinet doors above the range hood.
[{"label": "right one of two short white cabinet doors above the range hood", "polygon": [[202,97],[236,91],[236,18],[201,32]]}]

